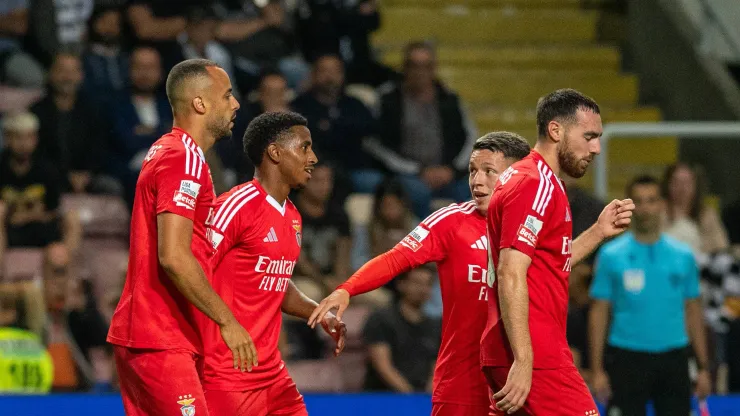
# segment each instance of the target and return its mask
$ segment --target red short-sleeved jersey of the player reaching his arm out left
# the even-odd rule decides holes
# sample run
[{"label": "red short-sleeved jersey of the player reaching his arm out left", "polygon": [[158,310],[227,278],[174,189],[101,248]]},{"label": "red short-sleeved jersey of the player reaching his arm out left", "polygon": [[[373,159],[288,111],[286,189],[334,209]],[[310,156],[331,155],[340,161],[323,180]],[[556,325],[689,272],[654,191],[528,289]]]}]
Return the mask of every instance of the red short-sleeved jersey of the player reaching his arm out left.
[{"label": "red short-sleeved jersey of the player reaching his arm out left", "polygon": [[487,247],[485,217],[470,201],[436,211],[393,249],[414,267],[429,262],[438,266],[443,308],[435,403],[489,403],[479,364],[487,311]]}]

